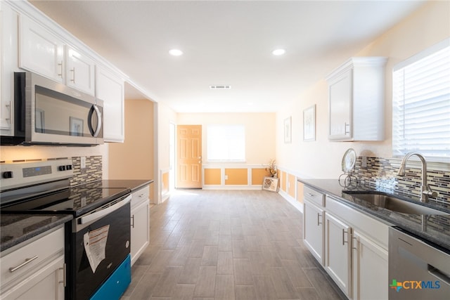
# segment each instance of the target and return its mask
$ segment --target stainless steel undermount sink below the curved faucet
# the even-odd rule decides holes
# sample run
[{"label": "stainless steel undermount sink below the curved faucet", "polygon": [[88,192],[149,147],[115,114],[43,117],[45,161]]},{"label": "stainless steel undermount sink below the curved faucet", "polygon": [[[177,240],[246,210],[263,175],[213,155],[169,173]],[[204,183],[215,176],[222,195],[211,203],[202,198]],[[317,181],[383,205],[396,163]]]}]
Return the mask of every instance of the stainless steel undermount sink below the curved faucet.
[{"label": "stainless steel undermount sink below the curved faucet", "polygon": [[397,211],[404,214],[438,214],[438,215],[450,215],[445,211],[439,211],[437,209],[432,209],[430,207],[425,207],[420,204],[409,202],[406,200],[401,200],[392,195],[386,195],[384,193],[373,193],[373,192],[344,192],[347,195],[355,197],[356,199],[369,202],[378,207],[383,207],[391,211]]}]

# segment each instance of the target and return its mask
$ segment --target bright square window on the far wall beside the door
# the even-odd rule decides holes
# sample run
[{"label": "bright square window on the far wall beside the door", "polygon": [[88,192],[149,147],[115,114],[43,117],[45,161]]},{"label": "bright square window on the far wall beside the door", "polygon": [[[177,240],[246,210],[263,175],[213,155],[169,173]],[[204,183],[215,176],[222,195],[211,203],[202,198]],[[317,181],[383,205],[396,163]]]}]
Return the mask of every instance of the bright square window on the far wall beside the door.
[{"label": "bright square window on the far wall beside the door", "polygon": [[244,125],[210,124],[206,134],[208,161],[245,161]]}]

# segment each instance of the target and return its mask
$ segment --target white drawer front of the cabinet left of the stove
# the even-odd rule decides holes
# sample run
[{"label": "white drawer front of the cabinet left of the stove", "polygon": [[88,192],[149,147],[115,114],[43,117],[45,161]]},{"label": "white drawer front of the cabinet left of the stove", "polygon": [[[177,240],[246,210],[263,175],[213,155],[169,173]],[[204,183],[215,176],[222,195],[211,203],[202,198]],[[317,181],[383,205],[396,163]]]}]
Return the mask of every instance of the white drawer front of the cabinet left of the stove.
[{"label": "white drawer front of the cabinet left of the stove", "polygon": [[[24,242],[25,244],[26,242]],[[64,255],[64,228],[61,227],[43,237],[25,244],[14,252],[1,257],[1,290],[16,278],[28,276],[50,259]],[[28,263],[26,263],[29,261]],[[19,267],[20,265],[23,265]],[[11,269],[14,269],[11,271]]]}]

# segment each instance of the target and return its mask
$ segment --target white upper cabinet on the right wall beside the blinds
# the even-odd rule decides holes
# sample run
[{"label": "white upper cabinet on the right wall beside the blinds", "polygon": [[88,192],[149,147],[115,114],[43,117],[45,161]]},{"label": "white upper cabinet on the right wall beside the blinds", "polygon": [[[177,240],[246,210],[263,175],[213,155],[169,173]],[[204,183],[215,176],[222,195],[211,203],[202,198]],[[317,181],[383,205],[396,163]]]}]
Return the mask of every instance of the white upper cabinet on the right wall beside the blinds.
[{"label": "white upper cabinet on the right wall beside the blinds", "polygon": [[350,58],[328,81],[328,138],[331,141],[384,140],[384,57]]}]

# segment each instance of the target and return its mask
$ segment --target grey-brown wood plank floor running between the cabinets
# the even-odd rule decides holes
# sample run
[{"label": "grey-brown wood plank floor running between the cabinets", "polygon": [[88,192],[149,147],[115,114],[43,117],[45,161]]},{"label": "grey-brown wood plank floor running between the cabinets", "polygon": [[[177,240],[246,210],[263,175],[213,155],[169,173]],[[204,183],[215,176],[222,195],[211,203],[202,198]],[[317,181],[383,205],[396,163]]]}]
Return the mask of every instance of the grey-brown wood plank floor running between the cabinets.
[{"label": "grey-brown wood plank floor running between the cabinets", "polygon": [[264,190],[176,191],[122,300],[345,299],[302,242],[302,214]]}]

